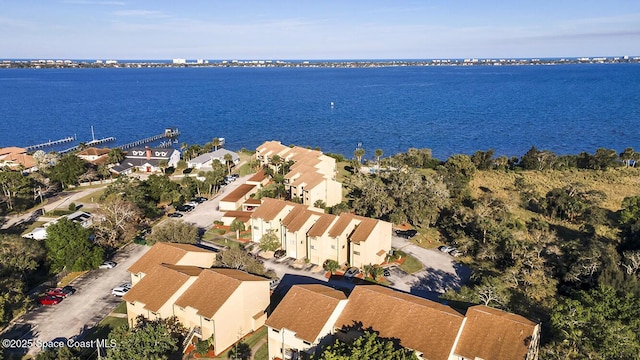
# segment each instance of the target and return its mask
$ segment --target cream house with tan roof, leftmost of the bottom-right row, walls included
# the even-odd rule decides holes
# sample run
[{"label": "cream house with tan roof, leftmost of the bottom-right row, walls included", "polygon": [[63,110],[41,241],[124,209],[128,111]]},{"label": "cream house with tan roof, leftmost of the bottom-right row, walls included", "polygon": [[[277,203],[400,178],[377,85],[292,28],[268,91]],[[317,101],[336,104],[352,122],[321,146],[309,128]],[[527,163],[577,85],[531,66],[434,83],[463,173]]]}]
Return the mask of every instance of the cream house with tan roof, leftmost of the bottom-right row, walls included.
[{"label": "cream house with tan roof, leftmost of the bottom-right row, walls included", "polygon": [[291,359],[301,349],[313,353],[346,304],[345,294],[330,287],[292,286],[266,322],[269,359]]}]

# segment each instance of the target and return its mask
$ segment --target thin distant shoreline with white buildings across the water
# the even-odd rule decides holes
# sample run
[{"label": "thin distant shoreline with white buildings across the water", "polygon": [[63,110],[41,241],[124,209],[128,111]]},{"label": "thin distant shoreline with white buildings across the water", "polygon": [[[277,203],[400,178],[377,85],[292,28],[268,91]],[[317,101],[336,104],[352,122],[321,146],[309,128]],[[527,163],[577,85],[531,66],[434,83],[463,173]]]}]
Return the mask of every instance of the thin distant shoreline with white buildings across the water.
[{"label": "thin distant shoreline with white buildings across the water", "polygon": [[409,66],[523,66],[565,64],[638,64],[638,57],[579,58],[469,58],[429,60],[1,60],[0,68],[159,68],[159,67],[282,67],[282,68],[372,68]]}]

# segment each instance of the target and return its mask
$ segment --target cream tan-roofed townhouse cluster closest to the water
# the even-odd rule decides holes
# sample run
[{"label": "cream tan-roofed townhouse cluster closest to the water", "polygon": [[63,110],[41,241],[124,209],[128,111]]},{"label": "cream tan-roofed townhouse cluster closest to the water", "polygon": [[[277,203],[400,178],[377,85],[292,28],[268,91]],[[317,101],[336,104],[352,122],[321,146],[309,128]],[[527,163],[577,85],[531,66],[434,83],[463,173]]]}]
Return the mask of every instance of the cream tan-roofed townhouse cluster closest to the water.
[{"label": "cream tan-roofed townhouse cluster closest to the water", "polygon": [[267,141],[256,149],[256,159],[262,166],[271,166],[277,155],[283,161],[293,162],[285,174],[285,189],[290,198],[299,198],[304,205],[322,201],[333,206],[342,201],[342,183],[336,181],[336,160],[321,151],[299,146],[284,146],[279,141]]}]

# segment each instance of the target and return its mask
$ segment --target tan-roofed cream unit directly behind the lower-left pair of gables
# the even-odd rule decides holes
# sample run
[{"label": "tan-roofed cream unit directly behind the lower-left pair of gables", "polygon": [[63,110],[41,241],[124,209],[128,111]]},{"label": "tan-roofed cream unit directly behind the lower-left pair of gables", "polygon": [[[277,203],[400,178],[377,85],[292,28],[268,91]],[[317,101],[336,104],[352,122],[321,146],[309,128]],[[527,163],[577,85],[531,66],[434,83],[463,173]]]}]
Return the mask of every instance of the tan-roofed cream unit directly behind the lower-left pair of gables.
[{"label": "tan-roofed cream unit directly behind the lower-left pair of gables", "polygon": [[191,244],[159,242],[154,244],[138,261],[127,269],[131,284],[149,274],[157,265],[191,265],[210,268],[216,261],[216,253]]}]

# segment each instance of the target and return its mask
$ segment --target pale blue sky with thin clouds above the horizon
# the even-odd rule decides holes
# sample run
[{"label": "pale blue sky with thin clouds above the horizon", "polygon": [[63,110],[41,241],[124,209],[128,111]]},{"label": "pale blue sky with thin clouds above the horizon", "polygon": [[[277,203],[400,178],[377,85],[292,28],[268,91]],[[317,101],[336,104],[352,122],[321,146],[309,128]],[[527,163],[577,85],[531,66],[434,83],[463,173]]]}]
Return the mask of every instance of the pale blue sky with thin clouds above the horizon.
[{"label": "pale blue sky with thin clouds above the horizon", "polygon": [[624,55],[637,0],[0,0],[0,59]]}]

